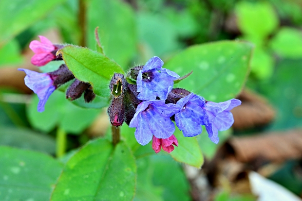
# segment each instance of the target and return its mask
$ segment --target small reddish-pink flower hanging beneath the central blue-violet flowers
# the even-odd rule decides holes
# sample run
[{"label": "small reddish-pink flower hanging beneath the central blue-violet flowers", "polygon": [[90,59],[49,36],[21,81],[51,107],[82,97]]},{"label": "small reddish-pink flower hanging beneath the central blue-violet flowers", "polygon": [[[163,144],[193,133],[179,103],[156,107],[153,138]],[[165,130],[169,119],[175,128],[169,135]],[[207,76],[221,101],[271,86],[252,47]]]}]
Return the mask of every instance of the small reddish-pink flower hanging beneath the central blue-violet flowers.
[{"label": "small reddish-pink flower hanging beneath the central blue-violet flowers", "polygon": [[161,150],[160,147],[162,147],[164,151],[167,151],[168,153],[170,153],[171,151],[174,150],[173,145],[178,147],[178,141],[177,141],[175,135],[172,134],[167,139],[160,139],[153,135],[152,149],[155,151],[155,153],[158,153]]}]

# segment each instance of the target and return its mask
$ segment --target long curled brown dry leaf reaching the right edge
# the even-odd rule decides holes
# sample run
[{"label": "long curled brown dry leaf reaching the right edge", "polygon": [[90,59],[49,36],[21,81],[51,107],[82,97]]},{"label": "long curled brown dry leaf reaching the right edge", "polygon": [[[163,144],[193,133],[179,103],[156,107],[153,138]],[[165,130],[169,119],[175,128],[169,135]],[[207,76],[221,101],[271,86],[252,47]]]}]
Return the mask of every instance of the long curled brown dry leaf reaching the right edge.
[{"label": "long curled brown dry leaf reaching the right edge", "polygon": [[302,130],[233,137],[227,144],[233,148],[236,159],[241,162],[263,158],[278,163],[302,158]]}]

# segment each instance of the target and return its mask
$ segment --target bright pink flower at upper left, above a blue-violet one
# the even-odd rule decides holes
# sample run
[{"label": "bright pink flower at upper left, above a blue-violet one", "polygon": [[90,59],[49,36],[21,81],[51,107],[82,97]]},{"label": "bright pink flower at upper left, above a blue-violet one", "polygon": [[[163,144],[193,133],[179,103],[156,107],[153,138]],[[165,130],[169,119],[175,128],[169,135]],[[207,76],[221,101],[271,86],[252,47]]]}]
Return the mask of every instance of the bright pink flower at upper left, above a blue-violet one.
[{"label": "bright pink flower at upper left, above a blue-violet one", "polygon": [[32,64],[41,67],[56,59],[56,52],[53,51],[57,50],[57,47],[46,37],[39,35],[39,38],[41,42],[33,40],[30,42],[29,48],[35,52],[31,59]]}]

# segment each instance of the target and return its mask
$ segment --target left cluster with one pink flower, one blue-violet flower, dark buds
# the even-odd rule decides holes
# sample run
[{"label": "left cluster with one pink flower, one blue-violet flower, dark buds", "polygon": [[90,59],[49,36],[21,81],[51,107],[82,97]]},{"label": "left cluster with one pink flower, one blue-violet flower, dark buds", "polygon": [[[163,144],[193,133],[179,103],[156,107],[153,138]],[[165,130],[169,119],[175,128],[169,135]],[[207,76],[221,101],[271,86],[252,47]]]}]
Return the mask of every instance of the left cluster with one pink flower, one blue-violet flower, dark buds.
[{"label": "left cluster with one pink flower, one blue-violet flower, dark buds", "polygon": [[[57,50],[64,47],[63,45],[52,44],[52,42],[44,36],[39,36],[39,38],[41,42],[34,40],[29,45],[30,49],[35,53],[31,59],[32,64],[40,67],[54,60],[62,60],[61,55],[56,54]],[[75,79],[73,73],[65,64],[49,73],[39,73],[24,68],[19,68],[19,70],[26,73],[24,78],[25,84],[38,95],[38,112],[44,111],[44,105],[55,89]],[[70,98],[71,101],[73,101],[81,97],[83,93],[86,102],[92,101],[95,97],[89,83],[75,79],[73,84],[67,89],[66,98]]]}]

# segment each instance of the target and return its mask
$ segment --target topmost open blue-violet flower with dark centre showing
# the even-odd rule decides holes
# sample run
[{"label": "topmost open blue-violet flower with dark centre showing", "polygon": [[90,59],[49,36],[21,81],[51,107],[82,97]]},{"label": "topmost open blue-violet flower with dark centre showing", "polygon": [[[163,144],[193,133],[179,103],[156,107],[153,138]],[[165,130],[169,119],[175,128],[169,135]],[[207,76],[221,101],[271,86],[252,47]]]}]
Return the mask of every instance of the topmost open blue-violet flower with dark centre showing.
[{"label": "topmost open blue-violet flower with dark centre showing", "polygon": [[142,101],[155,100],[159,97],[166,100],[172,90],[174,80],[179,78],[175,72],[162,68],[164,62],[159,57],[152,57],[136,79],[138,99]]}]

